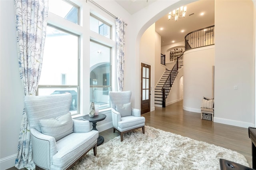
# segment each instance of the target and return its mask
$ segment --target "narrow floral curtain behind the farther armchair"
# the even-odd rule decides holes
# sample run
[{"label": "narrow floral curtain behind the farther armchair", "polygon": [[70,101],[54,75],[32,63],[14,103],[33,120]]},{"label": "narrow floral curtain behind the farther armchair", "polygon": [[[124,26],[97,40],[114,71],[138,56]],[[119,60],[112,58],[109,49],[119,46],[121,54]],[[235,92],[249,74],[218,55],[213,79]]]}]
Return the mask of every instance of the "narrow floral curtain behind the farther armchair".
[{"label": "narrow floral curtain behind the farther armchair", "polygon": [[116,18],[116,65],[118,78],[118,91],[123,91],[124,86],[124,47],[126,23]]}]

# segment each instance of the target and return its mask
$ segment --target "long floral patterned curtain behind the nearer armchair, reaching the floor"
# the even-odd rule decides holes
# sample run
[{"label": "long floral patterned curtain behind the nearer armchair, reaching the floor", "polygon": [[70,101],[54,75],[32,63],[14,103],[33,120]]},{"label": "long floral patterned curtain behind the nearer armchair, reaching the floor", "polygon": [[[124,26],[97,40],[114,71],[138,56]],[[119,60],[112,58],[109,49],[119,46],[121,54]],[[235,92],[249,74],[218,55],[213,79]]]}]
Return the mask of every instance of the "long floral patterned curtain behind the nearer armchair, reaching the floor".
[{"label": "long floral patterned curtain behind the nearer armchair, reaching the floor", "polygon": [[[14,0],[20,78],[25,95],[36,95],[44,51],[48,17],[48,0]],[[18,154],[18,169],[35,169],[32,160],[30,128],[25,109],[22,113]]]}]

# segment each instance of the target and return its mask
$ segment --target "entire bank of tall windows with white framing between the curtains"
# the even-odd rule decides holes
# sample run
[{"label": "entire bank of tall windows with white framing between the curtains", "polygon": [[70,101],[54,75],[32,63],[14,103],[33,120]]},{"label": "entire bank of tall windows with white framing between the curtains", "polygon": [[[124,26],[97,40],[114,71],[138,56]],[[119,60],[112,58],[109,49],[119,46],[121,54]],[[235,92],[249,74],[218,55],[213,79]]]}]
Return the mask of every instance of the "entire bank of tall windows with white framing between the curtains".
[{"label": "entire bank of tall windows with white framing between the curtains", "polygon": [[[86,8],[80,8],[82,6]],[[112,25],[115,19],[107,14],[97,14],[97,9],[93,10],[94,14],[89,14],[87,6],[90,8],[90,3],[86,1],[49,0],[44,59],[37,95],[71,93],[72,115],[87,114],[90,101],[99,105],[99,109],[110,107],[108,94],[113,80],[111,57],[116,42],[112,40]],[[87,20],[90,20],[90,24],[83,23]],[[91,31],[88,32],[88,29]],[[91,40],[87,39],[89,37]],[[80,44],[83,46],[80,47]]]}]

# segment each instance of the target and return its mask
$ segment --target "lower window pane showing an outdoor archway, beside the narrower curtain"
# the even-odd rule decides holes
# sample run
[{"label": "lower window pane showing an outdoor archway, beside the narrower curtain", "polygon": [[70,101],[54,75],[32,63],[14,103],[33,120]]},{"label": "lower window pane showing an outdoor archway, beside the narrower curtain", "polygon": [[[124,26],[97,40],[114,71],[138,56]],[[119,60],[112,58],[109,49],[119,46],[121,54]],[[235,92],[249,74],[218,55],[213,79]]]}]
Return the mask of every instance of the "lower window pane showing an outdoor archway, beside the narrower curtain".
[{"label": "lower window pane showing an outdoor archway, beside the narrower curtain", "polygon": [[99,109],[110,107],[111,90],[111,47],[90,42],[90,101],[99,105]]}]

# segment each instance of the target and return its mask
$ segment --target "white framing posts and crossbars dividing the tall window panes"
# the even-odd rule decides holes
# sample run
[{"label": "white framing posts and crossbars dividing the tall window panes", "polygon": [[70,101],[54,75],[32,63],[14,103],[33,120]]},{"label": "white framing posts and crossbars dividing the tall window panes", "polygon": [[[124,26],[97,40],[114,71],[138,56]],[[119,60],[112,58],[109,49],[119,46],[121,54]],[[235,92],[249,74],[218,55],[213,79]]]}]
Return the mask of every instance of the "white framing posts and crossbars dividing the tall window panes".
[{"label": "white framing posts and crossbars dividing the tall window panes", "polygon": [[[94,5],[90,3],[86,3],[86,1],[73,1],[77,6],[80,7],[80,18],[79,23],[74,24],[61,16],[58,16],[52,12],[48,12],[47,23],[54,27],[60,28],[61,30],[66,30],[67,32],[71,32],[80,36],[79,47],[79,89],[77,91],[78,105],[79,110],[76,115],[72,115],[72,118],[78,118],[83,115],[88,114],[88,110],[90,108],[90,96],[88,95],[88,90],[90,89],[90,63],[88,62],[90,57],[90,40],[95,40],[96,42],[100,42],[103,45],[107,45],[112,48],[112,54],[110,58],[111,65],[111,89],[109,91],[113,91],[117,89],[117,80],[116,80],[116,34],[115,34],[115,18],[102,12],[99,8],[96,8]],[[104,37],[96,32],[90,30],[90,16],[93,15],[100,21],[106,23],[108,26],[111,26],[110,34],[111,36]],[[46,87],[49,88],[49,87]],[[54,88],[54,86],[52,86]],[[109,113],[111,110],[111,106],[106,109],[100,109],[99,113]]]}]

